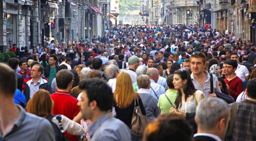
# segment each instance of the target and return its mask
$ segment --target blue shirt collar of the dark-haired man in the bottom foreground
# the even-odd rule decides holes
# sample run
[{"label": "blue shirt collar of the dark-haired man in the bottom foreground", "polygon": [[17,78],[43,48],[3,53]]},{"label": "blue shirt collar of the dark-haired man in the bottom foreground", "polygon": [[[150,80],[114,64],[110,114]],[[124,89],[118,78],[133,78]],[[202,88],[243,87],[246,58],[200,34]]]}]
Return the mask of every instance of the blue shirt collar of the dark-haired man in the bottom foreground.
[{"label": "blue shirt collar of the dark-haired man in the bottom foreground", "polygon": [[103,116],[101,116],[100,118],[98,118],[95,121],[95,123],[93,123],[93,125],[91,125],[91,127],[89,128],[89,131],[88,131],[91,138],[93,137],[94,132],[102,125],[102,123],[109,118],[111,118],[110,114],[106,113]]}]

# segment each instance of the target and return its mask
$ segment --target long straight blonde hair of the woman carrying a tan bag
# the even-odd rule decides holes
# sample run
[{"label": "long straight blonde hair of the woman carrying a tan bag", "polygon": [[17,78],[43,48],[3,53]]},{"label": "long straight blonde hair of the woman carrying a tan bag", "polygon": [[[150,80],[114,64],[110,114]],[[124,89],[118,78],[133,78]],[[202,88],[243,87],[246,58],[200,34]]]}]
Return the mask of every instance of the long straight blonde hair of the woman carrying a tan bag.
[{"label": "long straight blonde hair of the woman carrying a tan bag", "polygon": [[127,108],[138,94],[134,92],[132,79],[127,72],[120,72],[117,76],[114,99],[119,108]]}]

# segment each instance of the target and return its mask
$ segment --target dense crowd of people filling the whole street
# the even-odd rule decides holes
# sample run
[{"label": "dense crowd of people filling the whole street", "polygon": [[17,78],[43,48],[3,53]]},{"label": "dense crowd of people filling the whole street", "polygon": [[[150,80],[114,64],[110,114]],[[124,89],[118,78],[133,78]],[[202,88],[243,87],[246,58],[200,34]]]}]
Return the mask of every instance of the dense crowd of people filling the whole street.
[{"label": "dense crowd of people filling the whole street", "polygon": [[9,51],[0,141],[256,140],[255,46],[227,31],[118,25]]}]

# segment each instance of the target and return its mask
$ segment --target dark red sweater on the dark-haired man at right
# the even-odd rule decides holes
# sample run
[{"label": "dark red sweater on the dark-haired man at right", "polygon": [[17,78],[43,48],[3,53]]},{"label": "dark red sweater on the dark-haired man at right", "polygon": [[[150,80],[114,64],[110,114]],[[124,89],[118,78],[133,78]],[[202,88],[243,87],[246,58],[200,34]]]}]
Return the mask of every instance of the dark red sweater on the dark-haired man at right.
[{"label": "dark red sweater on the dark-haired man at right", "polygon": [[237,96],[243,92],[243,81],[238,76],[230,81],[225,78],[224,81],[229,86],[230,96],[236,100]]}]

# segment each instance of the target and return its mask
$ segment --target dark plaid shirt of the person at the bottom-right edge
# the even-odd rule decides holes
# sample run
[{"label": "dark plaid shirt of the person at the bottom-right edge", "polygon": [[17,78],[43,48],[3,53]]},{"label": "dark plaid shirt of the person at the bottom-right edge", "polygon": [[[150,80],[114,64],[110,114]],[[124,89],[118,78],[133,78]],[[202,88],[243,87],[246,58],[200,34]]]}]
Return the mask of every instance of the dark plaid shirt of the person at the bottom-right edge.
[{"label": "dark plaid shirt of the person at the bottom-right edge", "polygon": [[[232,112],[233,104],[230,104]],[[237,105],[232,141],[256,141],[256,102],[243,100]]]}]

